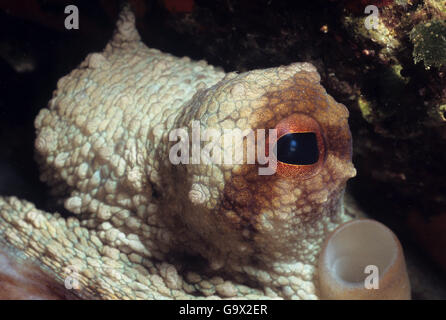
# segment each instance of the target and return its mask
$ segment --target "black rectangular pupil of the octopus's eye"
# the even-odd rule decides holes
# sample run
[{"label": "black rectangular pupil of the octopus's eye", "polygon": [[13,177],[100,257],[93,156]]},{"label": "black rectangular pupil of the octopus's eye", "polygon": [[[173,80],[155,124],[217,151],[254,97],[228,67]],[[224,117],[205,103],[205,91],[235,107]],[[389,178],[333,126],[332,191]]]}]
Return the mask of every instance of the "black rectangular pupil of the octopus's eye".
[{"label": "black rectangular pupil of the octopus's eye", "polygon": [[319,160],[319,149],[314,132],[288,133],[279,138],[277,160],[287,164],[309,165]]}]

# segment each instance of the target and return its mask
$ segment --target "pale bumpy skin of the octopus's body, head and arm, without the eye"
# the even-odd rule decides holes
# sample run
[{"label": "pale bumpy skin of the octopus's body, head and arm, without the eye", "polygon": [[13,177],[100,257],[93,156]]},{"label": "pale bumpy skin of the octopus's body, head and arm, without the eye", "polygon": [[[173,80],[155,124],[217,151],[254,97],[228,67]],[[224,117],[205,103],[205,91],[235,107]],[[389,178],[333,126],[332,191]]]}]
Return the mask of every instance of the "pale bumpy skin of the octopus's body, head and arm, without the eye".
[{"label": "pale bumpy skin of the octopus's body, head and arm, without the eye", "polygon": [[[149,49],[124,9],[104,52],[61,78],[35,121],[41,179],[77,217],[0,197],[0,242],[86,298],[316,299],[320,246],[349,219],[355,175],[348,112],[319,80],[308,63],[225,74]],[[169,132],[192,120],[268,129],[294,113],[324,136],[311,177],[169,161]]]}]

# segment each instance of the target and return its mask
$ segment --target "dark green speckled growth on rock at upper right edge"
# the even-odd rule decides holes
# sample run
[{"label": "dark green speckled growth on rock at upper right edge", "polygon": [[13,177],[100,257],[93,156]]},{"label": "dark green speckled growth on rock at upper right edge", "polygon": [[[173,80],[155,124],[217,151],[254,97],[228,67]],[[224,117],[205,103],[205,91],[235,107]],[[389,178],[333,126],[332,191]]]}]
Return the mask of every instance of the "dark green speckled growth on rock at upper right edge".
[{"label": "dark green speckled growth on rock at upper right edge", "polygon": [[415,63],[423,61],[426,69],[446,65],[446,23],[440,20],[423,22],[410,32]]}]

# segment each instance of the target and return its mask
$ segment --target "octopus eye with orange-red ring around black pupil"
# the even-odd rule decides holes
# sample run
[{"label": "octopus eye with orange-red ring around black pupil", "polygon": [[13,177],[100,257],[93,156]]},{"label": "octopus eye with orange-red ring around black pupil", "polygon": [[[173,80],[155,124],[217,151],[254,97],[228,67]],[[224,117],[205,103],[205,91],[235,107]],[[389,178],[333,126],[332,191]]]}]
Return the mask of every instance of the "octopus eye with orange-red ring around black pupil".
[{"label": "octopus eye with orange-red ring around black pupil", "polygon": [[306,179],[319,172],[325,160],[325,143],[319,123],[310,116],[295,113],[282,119],[276,129],[277,174]]}]

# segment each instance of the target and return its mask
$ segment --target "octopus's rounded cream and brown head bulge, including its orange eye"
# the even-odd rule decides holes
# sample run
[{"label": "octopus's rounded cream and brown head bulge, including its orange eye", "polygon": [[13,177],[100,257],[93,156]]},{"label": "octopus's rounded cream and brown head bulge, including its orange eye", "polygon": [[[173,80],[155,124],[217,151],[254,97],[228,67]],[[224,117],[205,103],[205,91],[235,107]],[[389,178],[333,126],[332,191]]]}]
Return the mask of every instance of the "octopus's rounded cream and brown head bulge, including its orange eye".
[{"label": "octopus's rounded cream and brown head bulge, including its orange eye", "polygon": [[[228,74],[176,119],[192,128],[192,160],[171,169],[185,181],[175,217],[201,254],[314,259],[355,175],[348,111],[319,80],[308,63]],[[194,148],[194,137],[208,143]]]}]

